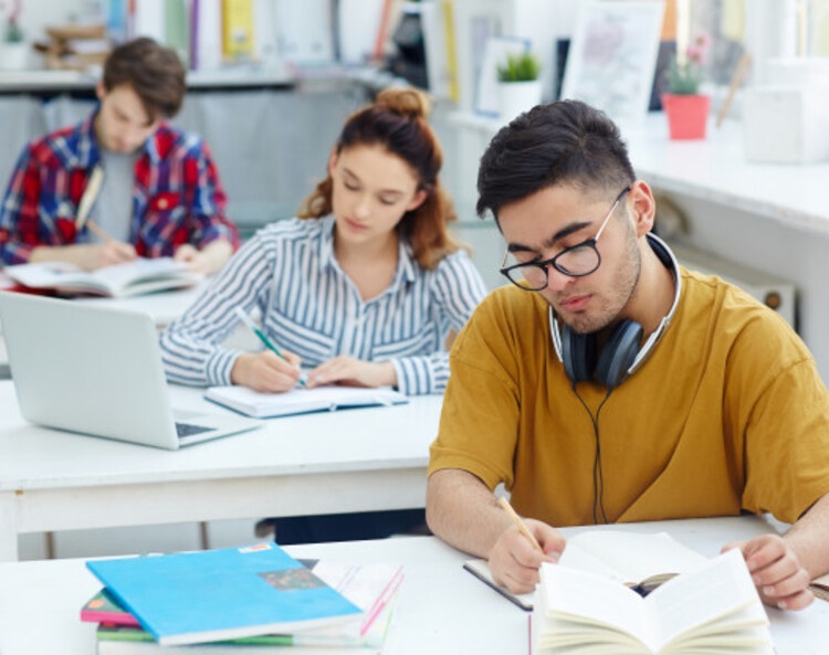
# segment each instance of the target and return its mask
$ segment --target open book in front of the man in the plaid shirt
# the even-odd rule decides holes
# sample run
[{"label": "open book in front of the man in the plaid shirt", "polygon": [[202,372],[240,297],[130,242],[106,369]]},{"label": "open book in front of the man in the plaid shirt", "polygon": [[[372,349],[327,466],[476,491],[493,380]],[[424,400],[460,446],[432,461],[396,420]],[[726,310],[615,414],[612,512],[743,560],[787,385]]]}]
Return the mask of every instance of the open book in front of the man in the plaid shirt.
[{"label": "open book in front of the man in the plaid shirt", "polygon": [[126,264],[83,271],[69,262],[8,266],[6,273],[18,284],[60,295],[127,297],[198,284],[203,277],[170,257],[139,258]]}]

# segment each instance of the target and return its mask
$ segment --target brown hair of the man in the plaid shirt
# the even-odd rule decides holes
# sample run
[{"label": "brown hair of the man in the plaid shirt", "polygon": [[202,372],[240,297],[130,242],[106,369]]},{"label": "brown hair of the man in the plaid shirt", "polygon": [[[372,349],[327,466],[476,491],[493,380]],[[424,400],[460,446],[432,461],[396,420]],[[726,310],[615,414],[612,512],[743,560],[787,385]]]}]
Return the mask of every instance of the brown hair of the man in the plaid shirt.
[{"label": "brown hair of the man in the plaid shirt", "polygon": [[104,63],[104,88],[128,84],[149,117],[171,118],[185,101],[187,71],[171,47],[141,36],[115,47]]}]

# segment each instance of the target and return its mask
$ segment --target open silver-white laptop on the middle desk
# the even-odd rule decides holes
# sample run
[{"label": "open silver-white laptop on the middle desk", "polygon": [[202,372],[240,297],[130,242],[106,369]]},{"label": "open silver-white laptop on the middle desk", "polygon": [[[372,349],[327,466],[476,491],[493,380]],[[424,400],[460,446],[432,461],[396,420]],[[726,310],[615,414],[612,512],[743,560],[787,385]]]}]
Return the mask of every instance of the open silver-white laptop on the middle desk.
[{"label": "open silver-white laptop on the middle desk", "polygon": [[148,314],[0,292],[0,325],[32,423],[170,450],[261,424],[231,412],[174,414]]}]

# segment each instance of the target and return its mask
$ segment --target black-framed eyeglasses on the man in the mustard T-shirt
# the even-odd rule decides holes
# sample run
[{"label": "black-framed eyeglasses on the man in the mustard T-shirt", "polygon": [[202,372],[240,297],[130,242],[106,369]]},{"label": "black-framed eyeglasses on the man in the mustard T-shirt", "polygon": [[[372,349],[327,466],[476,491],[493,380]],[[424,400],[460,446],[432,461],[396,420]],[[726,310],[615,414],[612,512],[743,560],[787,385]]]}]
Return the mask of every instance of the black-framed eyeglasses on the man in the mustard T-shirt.
[{"label": "black-framed eyeglasses on the man in the mustard T-shirt", "polygon": [[548,270],[553,266],[559,273],[567,275],[568,277],[585,277],[595,273],[601,265],[601,255],[596,247],[596,243],[599,241],[599,236],[605,231],[610,216],[613,215],[616,208],[625,198],[625,194],[630,191],[631,187],[628,186],[622,189],[621,193],[616,197],[610,211],[601,222],[599,231],[596,236],[583,241],[576,245],[564,249],[555,257],[544,260],[543,262],[526,262],[523,264],[513,264],[512,266],[504,266],[506,258],[510,256],[510,251],[504,255],[504,261],[501,265],[501,274],[512,282],[515,286],[523,288],[528,292],[539,292],[546,288],[549,281]]}]

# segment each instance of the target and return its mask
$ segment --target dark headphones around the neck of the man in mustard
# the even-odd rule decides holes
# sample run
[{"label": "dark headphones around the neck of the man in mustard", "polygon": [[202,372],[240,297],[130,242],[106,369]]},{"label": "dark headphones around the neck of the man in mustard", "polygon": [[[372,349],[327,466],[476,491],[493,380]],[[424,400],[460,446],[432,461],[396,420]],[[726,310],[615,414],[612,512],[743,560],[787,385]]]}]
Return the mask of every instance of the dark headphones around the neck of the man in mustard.
[{"label": "dark headphones around the neck of the man in mustard", "polygon": [[651,355],[676,311],[682,292],[680,264],[671,249],[655,234],[648,234],[648,242],[659,260],[671,271],[674,279],[674,295],[671,309],[662,318],[653,334],[639,348],[642,340],[642,326],[634,320],[625,319],[612,329],[607,342],[598,351],[595,334],[579,334],[567,324],[559,327],[553,307],[549,308],[549,330],[558,360],[564,365],[567,378],[576,384],[595,380],[608,388],[616,389],[628,376],[634,373]]}]

